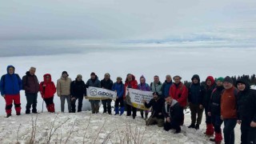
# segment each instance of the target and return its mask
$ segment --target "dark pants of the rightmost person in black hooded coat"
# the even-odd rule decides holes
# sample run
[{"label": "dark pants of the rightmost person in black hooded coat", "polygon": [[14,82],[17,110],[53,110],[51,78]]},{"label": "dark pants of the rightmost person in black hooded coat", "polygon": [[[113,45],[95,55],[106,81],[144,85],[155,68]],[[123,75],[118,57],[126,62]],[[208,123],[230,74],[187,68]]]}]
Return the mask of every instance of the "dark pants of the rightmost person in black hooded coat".
[{"label": "dark pants of the rightmost person in black hooded coat", "polygon": [[256,143],[256,128],[250,122],[241,123],[241,144]]}]

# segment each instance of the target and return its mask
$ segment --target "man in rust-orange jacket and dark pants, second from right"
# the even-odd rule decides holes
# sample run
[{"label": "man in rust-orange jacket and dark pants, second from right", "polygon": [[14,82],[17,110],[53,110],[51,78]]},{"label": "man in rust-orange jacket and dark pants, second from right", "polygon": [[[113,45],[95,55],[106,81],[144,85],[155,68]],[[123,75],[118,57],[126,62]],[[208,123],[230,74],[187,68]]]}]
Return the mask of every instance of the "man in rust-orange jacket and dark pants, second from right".
[{"label": "man in rust-orange jacket and dark pants, second from right", "polygon": [[221,117],[224,121],[224,141],[228,144],[234,144],[234,127],[238,119],[238,90],[233,86],[233,80],[229,76],[224,78],[223,86],[225,90],[221,99]]}]

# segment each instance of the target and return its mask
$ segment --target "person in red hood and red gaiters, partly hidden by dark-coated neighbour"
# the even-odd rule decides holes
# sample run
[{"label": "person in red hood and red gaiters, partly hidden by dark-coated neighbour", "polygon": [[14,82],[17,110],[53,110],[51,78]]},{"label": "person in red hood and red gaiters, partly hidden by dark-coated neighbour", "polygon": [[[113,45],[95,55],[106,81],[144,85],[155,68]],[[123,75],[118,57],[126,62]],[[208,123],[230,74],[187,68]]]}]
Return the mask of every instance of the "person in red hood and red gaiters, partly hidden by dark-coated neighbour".
[{"label": "person in red hood and red gaiters, partly hidden by dark-coated neighbour", "polygon": [[215,88],[215,81],[214,77],[208,76],[206,78],[206,87],[205,87],[205,95],[203,97],[203,106],[205,107],[205,114],[206,114],[206,132],[205,134],[210,137],[214,135],[214,125],[211,122],[211,117],[208,115],[209,103],[210,103],[210,96]]}]

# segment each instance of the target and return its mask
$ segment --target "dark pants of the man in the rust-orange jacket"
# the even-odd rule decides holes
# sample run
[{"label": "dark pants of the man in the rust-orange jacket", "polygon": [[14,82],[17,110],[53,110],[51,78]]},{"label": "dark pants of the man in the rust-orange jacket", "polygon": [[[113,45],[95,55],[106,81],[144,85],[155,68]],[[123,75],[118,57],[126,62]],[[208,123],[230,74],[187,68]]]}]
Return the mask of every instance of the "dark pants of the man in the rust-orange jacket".
[{"label": "dark pants of the man in the rust-orange jacket", "polygon": [[237,125],[236,118],[225,118],[224,119],[224,141],[225,144],[234,144],[234,127]]}]

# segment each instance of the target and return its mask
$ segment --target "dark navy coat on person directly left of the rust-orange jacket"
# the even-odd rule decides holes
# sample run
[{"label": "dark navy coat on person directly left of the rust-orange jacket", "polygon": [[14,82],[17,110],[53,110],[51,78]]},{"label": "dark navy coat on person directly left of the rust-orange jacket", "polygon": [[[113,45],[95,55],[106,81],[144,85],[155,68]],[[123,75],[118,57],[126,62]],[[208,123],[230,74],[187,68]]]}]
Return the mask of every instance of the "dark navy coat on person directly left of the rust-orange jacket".
[{"label": "dark navy coat on person directly left of the rust-orange jacket", "polygon": [[212,115],[221,115],[221,98],[222,98],[222,90],[224,90],[223,86],[216,86],[210,96],[210,102],[208,106],[208,111]]}]

